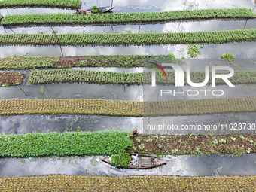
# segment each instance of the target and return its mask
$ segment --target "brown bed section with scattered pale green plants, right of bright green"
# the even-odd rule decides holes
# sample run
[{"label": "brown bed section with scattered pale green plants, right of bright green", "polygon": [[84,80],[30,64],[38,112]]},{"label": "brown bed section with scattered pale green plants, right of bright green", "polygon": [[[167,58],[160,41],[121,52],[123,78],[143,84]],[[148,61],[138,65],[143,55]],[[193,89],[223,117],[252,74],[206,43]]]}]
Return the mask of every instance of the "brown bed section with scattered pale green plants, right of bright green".
[{"label": "brown bed section with scattered pale green plants, right of bright green", "polygon": [[140,154],[250,154],[256,153],[256,134],[138,135],[133,138],[133,150]]}]

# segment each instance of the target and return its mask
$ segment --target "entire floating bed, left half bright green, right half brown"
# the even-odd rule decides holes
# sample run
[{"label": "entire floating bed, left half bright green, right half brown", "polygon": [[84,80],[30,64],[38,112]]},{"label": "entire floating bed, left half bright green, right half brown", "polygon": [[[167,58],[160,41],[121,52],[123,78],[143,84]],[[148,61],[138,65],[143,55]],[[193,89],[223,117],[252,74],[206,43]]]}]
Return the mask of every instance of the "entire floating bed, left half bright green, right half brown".
[{"label": "entire floating bed, left half bright green, right half brown", "polygon": [[[255,127],[254,127],[255,129]],[[0,134],[0,157],[123,154],[250,154],[256,134],[139,135],[120,131]]]}]

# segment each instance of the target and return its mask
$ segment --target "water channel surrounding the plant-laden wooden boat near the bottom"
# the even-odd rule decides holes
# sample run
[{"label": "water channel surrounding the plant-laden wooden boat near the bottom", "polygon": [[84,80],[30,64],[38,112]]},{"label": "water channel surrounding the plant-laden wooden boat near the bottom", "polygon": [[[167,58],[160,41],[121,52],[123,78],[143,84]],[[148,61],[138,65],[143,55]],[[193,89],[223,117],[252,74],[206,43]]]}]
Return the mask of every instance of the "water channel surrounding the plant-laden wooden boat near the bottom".
[{"label": "water channel surrounding the plant-laden wooden boat near the bottom", "polygon": [[0,177],[29,175],[255,175],[256,154],[164,156],[169,160],[154,169],[117,169],[102,162],[103,156],[92,157],[44,157],[0,159]]}]

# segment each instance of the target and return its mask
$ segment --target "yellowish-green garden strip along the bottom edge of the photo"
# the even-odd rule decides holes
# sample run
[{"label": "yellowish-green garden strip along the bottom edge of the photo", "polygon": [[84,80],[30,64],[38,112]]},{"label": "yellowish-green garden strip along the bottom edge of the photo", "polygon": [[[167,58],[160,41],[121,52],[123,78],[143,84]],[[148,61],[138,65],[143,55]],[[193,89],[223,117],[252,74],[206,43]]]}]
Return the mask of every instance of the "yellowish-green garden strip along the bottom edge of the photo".
[{"label": "yellowish-green garden strip along the bottom edge of the photo", "polygon": [[256,176],[84,176],[0,178],[4,191],[254,191]]}]

